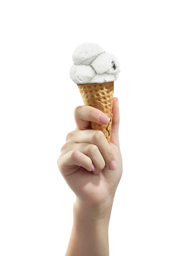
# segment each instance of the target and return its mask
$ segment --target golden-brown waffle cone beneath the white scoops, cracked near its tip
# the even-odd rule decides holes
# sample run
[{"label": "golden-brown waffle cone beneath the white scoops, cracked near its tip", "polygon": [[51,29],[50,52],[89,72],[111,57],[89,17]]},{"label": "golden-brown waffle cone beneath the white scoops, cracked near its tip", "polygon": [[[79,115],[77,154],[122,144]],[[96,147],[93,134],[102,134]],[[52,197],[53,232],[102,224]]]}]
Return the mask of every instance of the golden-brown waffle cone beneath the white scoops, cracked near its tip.
[{"label": "golden-brown waffle cone beneath the white scoops, cracked near its tip", "polygon": [[91,122],[94,130],[101,130],[107,141],[110,142],[112,128],[112,106],[114,82],[78,84],[84,105],[92,106],[104,112],[111,120],[108,124],[101,125]]}]

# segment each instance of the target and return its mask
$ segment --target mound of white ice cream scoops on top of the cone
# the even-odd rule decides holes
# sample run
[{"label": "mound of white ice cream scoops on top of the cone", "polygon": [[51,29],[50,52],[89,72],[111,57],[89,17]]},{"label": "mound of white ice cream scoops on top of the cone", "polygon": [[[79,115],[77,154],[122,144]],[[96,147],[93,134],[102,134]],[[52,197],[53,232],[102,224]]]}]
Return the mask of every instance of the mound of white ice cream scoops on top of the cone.
[{"label": "mound of white ice cream scoops on top of the cone", "polygon": [[73,55],[70,77],[76,84],[105,83],[118,79],[120,64],[116,56],[96,43],[79,45]]}]

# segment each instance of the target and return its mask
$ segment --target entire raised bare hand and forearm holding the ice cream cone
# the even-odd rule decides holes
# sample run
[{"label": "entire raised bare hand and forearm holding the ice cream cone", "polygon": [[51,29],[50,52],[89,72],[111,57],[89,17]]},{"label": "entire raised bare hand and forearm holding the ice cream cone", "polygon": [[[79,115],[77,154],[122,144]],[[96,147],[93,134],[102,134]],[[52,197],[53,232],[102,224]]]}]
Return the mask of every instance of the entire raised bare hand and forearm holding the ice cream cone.
[{"label": "entire raised bare hand and forearm holding the ice cream cone", "polygon": [[76,108],[76,130],[67,135],[58,159],[61,174],[76,194],[73,227],[65,256],[109,255],[109,219],[122,175],[116,98],[112,111],[112,135],[108,144],[102,132],[90,128],[90,121],[107,124],[107,116],[90,106]]}]

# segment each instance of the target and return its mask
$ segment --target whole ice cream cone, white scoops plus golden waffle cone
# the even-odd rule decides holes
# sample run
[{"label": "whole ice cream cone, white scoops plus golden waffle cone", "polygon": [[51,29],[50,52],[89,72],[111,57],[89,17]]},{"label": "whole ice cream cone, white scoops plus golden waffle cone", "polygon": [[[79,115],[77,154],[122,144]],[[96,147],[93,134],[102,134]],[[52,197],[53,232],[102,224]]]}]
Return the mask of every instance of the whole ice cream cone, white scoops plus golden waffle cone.
[{"label": "whole ice cream cone, white scoops plus golden waffle cone", "polygon": [[91,122],[91,127],[101,130],[110,142],[114,81],[120,72],[119,61],[114,54],[105,52],[96,43],[78,45],[72,59],[74,64],[70,77],[78,85],[84,104],[98,108],[110,118],[106,125]]}]

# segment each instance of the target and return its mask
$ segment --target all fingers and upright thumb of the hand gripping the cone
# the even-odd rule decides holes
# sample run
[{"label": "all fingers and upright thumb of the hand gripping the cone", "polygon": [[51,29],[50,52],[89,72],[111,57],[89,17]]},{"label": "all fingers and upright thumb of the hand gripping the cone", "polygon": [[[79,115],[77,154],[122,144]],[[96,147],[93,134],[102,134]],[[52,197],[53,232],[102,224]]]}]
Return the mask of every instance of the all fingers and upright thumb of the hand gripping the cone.
[{"label": "all fingers and upright thumb of the hand gripping the cone", "polygon": [[[119,109],[118,99],[114,98],[112,122],[112,144],[118,146]],[[80,106],[74,111],[77,129],[69,132],[66,144],[61,150],[58,166],[64,175],[69,175],[83,167],[94,174],[101,173],[103,168],[116,170],[116,162],[112,145],[103,132],[92,130],[90,121],[98,124],[107,124],[110,119],[100,110],[91,106]]]}]

